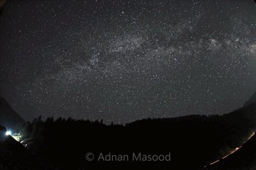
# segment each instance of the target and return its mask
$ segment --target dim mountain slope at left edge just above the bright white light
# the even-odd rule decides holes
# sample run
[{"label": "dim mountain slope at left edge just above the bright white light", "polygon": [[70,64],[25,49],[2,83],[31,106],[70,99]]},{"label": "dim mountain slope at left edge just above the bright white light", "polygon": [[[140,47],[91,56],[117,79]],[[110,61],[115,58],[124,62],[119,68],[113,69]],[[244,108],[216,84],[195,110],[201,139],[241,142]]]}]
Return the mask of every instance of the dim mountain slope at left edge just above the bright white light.
[{"label": "dim mountain slope at left edge just above the bright white light", "polygon": [[19,131],[25,124],[25,121],[13,111],[4,98],[0,98],[0,124],[13,132]]}]

